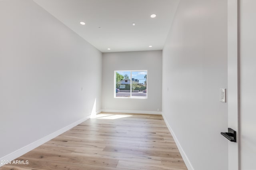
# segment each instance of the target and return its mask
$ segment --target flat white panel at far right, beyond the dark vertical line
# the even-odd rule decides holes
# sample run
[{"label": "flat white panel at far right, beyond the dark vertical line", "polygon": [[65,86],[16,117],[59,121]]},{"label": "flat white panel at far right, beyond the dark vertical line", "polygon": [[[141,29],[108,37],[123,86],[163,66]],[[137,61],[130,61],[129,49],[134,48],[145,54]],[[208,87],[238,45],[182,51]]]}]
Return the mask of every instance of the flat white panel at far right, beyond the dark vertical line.
[{"label": "flat white panel at far right, beyond the dark vertical line", "polygon": [[256,170],[256,1],[240,1],[241,170]]}]

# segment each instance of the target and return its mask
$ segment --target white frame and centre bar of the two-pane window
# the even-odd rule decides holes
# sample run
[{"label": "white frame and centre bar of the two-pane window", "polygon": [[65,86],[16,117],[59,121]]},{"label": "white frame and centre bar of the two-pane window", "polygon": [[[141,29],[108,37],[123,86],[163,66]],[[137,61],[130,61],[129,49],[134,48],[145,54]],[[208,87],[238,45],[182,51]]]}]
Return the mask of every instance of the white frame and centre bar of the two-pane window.
[{"label": "white frame and centre bar of the two-pane window", "polygon": [[[130,97],[116,97],[116,72],[119,72],[119,71],[130,71]],[[132,72],[133,71],[147,72],[147,84],[146,84],[147,95],[146,96],[132,96]],[[114,98],[116,99],[148,99],[148,70],[115,70],[114,71]]]}]

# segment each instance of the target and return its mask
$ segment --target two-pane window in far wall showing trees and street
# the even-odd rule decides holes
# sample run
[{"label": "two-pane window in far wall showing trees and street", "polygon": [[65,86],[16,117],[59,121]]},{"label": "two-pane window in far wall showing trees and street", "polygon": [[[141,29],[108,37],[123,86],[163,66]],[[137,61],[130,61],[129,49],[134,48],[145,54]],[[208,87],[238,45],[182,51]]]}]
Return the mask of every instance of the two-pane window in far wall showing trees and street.
[{"label": "two-pane window in far wall showing trees and street", "polygon": [[115,71],[114,97],[147,99],[147,75],[147,70]]}]

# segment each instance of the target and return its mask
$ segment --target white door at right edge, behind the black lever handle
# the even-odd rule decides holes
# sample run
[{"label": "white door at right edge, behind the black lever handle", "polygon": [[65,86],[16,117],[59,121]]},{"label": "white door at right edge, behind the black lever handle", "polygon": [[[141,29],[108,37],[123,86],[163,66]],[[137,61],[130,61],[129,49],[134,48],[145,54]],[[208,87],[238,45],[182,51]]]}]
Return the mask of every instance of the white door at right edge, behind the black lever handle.
[{"label": "white door at right edge, behind the black lever handle", "polygon": [[229,170],[256,170],[256,0],[228,0]]}]

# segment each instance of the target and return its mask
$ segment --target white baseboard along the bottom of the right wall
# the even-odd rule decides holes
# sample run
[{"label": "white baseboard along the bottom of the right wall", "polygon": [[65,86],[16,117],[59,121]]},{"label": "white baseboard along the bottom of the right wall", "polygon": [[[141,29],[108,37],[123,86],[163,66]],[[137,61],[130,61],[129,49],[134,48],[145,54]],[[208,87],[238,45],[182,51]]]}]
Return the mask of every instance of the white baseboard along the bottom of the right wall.
[{"label": "white baseboard along the bottom of the right wall", "polygon": [[182,146],[180,145],[180,142],[178,141],[178,139],[177,139],[177,137],[176,137],[174,131],[172,130],[171,126],[169,125],[168,121],[166,120],[166,117],[164,116],[164,114],[162,114],[162,117],[164,118],[164,121],[165,121],[165,123],[166,123],[166,126],[168,127],[170,133],[172,134],[172,137],[173,137],[173,139],[174,139],[174,141],[175,141],[175,143],[176,143],[176,145],[177,145],[177,147],[178,147],[178,150],[180,151],[180,154],[181,154],[181,156],[182,156],[182,159],[184,160],[184,162],[185,162],[185,164],[186,164],[188,170],[194,170],[194,168],[193,168],[191,162],[190,162],[189,159],[188,159],[188,156],[187,156],[186,153],[184,152]]}]

